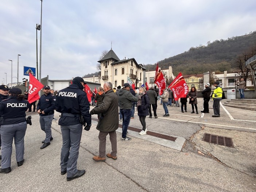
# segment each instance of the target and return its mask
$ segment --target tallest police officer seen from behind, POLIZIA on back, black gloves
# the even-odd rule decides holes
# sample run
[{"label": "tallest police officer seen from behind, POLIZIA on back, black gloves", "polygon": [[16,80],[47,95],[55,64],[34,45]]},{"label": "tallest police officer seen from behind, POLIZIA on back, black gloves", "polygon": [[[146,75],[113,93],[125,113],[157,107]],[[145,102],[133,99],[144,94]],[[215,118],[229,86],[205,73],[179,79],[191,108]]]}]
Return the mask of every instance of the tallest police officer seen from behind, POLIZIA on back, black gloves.
[{"label": "tallest police officer seen from behind, POLIZIA on back, black gloves", "polygon": [[59,125],[62,133],[61,175],[67,173],[67,181],[85,174],[85,170],[77,169],[77,159],[82,136],[80,116],[86,122],[86,130],[92,125],[89,113],[90,103],[84,90],[84,79],[75,77],[72,84],[59,91],[56,97],[56,111],[61,113]]}]

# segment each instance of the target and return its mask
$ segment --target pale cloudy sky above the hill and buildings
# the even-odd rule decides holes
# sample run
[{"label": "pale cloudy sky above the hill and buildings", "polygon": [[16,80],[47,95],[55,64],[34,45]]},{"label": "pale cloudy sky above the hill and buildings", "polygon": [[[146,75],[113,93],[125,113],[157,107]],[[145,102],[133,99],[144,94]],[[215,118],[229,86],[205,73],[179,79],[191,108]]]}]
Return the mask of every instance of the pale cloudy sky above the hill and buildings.
[{"label": "pale cloudy sky above the hill and buildings", "polygon": [[[138,64],[190,47],[256,31],[255,0],[43,0],[41,78],[71,79],[97,71],[102,51]],[[0,85],[36,68],[41,0],[0,1]],[[38,31],[38,65],[40,51]],[[12,70],[11,61],[12,60]],[[161,66],[159,66],[161,67]],[[12,71],[12,75],[11,75]]]}]

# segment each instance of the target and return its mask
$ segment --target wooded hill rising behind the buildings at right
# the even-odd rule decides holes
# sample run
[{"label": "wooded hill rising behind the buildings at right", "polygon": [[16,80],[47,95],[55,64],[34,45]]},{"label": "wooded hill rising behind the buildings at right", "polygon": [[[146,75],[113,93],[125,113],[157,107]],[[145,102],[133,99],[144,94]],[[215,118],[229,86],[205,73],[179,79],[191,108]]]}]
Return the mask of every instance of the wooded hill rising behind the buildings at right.
[{"label": "wooded hill rising behind the buildings at right", "polygon": [[[207,71],[228,73],[239,71],[237,58],[256,46],[256,31],[248,35],[226,40],[207,42],[207,46],[191,47],[182,54],[160,60],[158,66],[166,69],[172,66],[174,75],[202,74]],[[156,64],[145,65],[147,70],[155,70]]]}]

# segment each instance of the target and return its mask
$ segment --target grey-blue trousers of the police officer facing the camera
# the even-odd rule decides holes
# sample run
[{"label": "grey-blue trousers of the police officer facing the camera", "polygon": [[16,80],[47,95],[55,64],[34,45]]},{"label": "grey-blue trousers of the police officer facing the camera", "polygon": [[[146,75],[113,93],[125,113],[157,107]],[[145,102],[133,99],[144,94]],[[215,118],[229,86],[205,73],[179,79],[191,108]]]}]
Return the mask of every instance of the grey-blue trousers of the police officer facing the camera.
[{"label": "grey-blue trousers of the police officer facing the camera", "polygon": [[53,115],[54,114],[45,115],[45,116],[40,115],[40,118],[39,118],[41,129],[46,134],[46,137],[45,137],[45,140],[44,140],[45,143],[49,143],[50,142],[50,138],[51,138],[51,122],[53,122]]}]

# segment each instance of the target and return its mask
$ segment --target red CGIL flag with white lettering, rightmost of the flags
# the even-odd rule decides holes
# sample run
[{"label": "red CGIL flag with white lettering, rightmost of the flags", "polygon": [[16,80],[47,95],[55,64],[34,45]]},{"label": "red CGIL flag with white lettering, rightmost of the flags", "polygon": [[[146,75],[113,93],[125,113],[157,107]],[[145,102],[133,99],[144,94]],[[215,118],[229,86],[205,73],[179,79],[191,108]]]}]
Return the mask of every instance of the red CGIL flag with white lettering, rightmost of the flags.
[{"label": "red CGIL flag with white lettering, rightmost of the flags", "polygon": [[172,90],[175,101],[178,101],[181,97],[186,97],[189,89],[181,73],[171,82],[168,88]]}]

